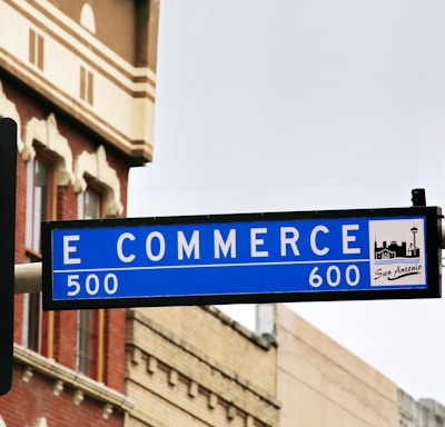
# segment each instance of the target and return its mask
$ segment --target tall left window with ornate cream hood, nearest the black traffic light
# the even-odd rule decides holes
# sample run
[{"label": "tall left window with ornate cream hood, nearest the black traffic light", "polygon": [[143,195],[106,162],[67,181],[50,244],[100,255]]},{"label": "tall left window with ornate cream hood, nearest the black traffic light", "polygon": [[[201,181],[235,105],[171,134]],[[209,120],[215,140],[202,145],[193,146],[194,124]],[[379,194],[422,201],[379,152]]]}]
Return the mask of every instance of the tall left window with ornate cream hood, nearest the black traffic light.
[{"label": "tall left window with ornate cream hood, nearest the black traffic light", "polygon": [[[32,118],[24,129],[22,158],[27,162],[26,249],[29,262],[41,260],[40,222],[56,217],[57,186],[73,182],[72,152],[58,130],[55,115]],[[48,356],[51,341],[48,312],[42,312],[41,295],[26,294],[23,345]]]}]

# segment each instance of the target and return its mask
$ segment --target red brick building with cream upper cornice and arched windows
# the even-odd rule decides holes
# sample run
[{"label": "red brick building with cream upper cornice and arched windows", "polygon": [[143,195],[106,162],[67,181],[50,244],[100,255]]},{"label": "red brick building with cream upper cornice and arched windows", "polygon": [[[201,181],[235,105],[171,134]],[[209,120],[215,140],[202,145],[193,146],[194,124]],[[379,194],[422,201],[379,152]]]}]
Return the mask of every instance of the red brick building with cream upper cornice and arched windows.
[{"label": "red brick building with cream upper cornice and arched windows", "polygon": [[[16,264],[40,222],[126,215],[128,170],[151,160],[159,0],[0,2],[0,117],[18,123]],[[116,36],[118,31],[118,37]],[[121,426],[126,311],[46,312],[16,296],[11,426]]]}]

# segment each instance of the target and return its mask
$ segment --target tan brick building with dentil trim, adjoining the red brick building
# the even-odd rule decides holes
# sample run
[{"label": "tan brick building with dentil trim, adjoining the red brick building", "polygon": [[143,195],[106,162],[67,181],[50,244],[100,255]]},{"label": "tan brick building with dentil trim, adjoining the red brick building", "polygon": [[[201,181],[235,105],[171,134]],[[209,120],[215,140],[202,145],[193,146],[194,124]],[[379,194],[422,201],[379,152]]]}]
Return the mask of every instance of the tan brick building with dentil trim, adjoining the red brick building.
[{"label": "tan brick building with dentil trim, adjoining the red brick building", "polygon": [[127,314],[127,426],[279,425],[277,347],[214,307]]}]

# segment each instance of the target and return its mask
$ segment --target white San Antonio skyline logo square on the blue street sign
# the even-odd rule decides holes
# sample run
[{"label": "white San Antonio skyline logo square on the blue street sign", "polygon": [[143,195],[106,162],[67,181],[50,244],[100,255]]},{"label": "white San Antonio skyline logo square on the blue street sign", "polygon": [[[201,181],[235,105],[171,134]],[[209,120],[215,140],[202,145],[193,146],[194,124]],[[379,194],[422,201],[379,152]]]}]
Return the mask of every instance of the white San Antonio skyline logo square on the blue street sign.
[{"label": "white San Antonio skyline logo square on the blue street sign", "polygon": [[424,219],[369,221],[372,286],[425,285]]}]

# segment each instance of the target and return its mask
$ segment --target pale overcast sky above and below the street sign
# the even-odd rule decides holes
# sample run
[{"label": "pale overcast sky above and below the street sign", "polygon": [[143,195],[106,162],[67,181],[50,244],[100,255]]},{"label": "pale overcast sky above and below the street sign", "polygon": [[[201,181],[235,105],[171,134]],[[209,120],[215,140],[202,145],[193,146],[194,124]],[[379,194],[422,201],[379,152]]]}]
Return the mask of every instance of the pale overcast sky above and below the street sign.
[{"label": "pale overcast sky above and below the street sign", "polygon": [[[445,2],[161,0],[154,162],[129,216],[445,201]],[[445,304],[296,304],[445,405]],[[253,307],[229,312],[254,327]]]}]

